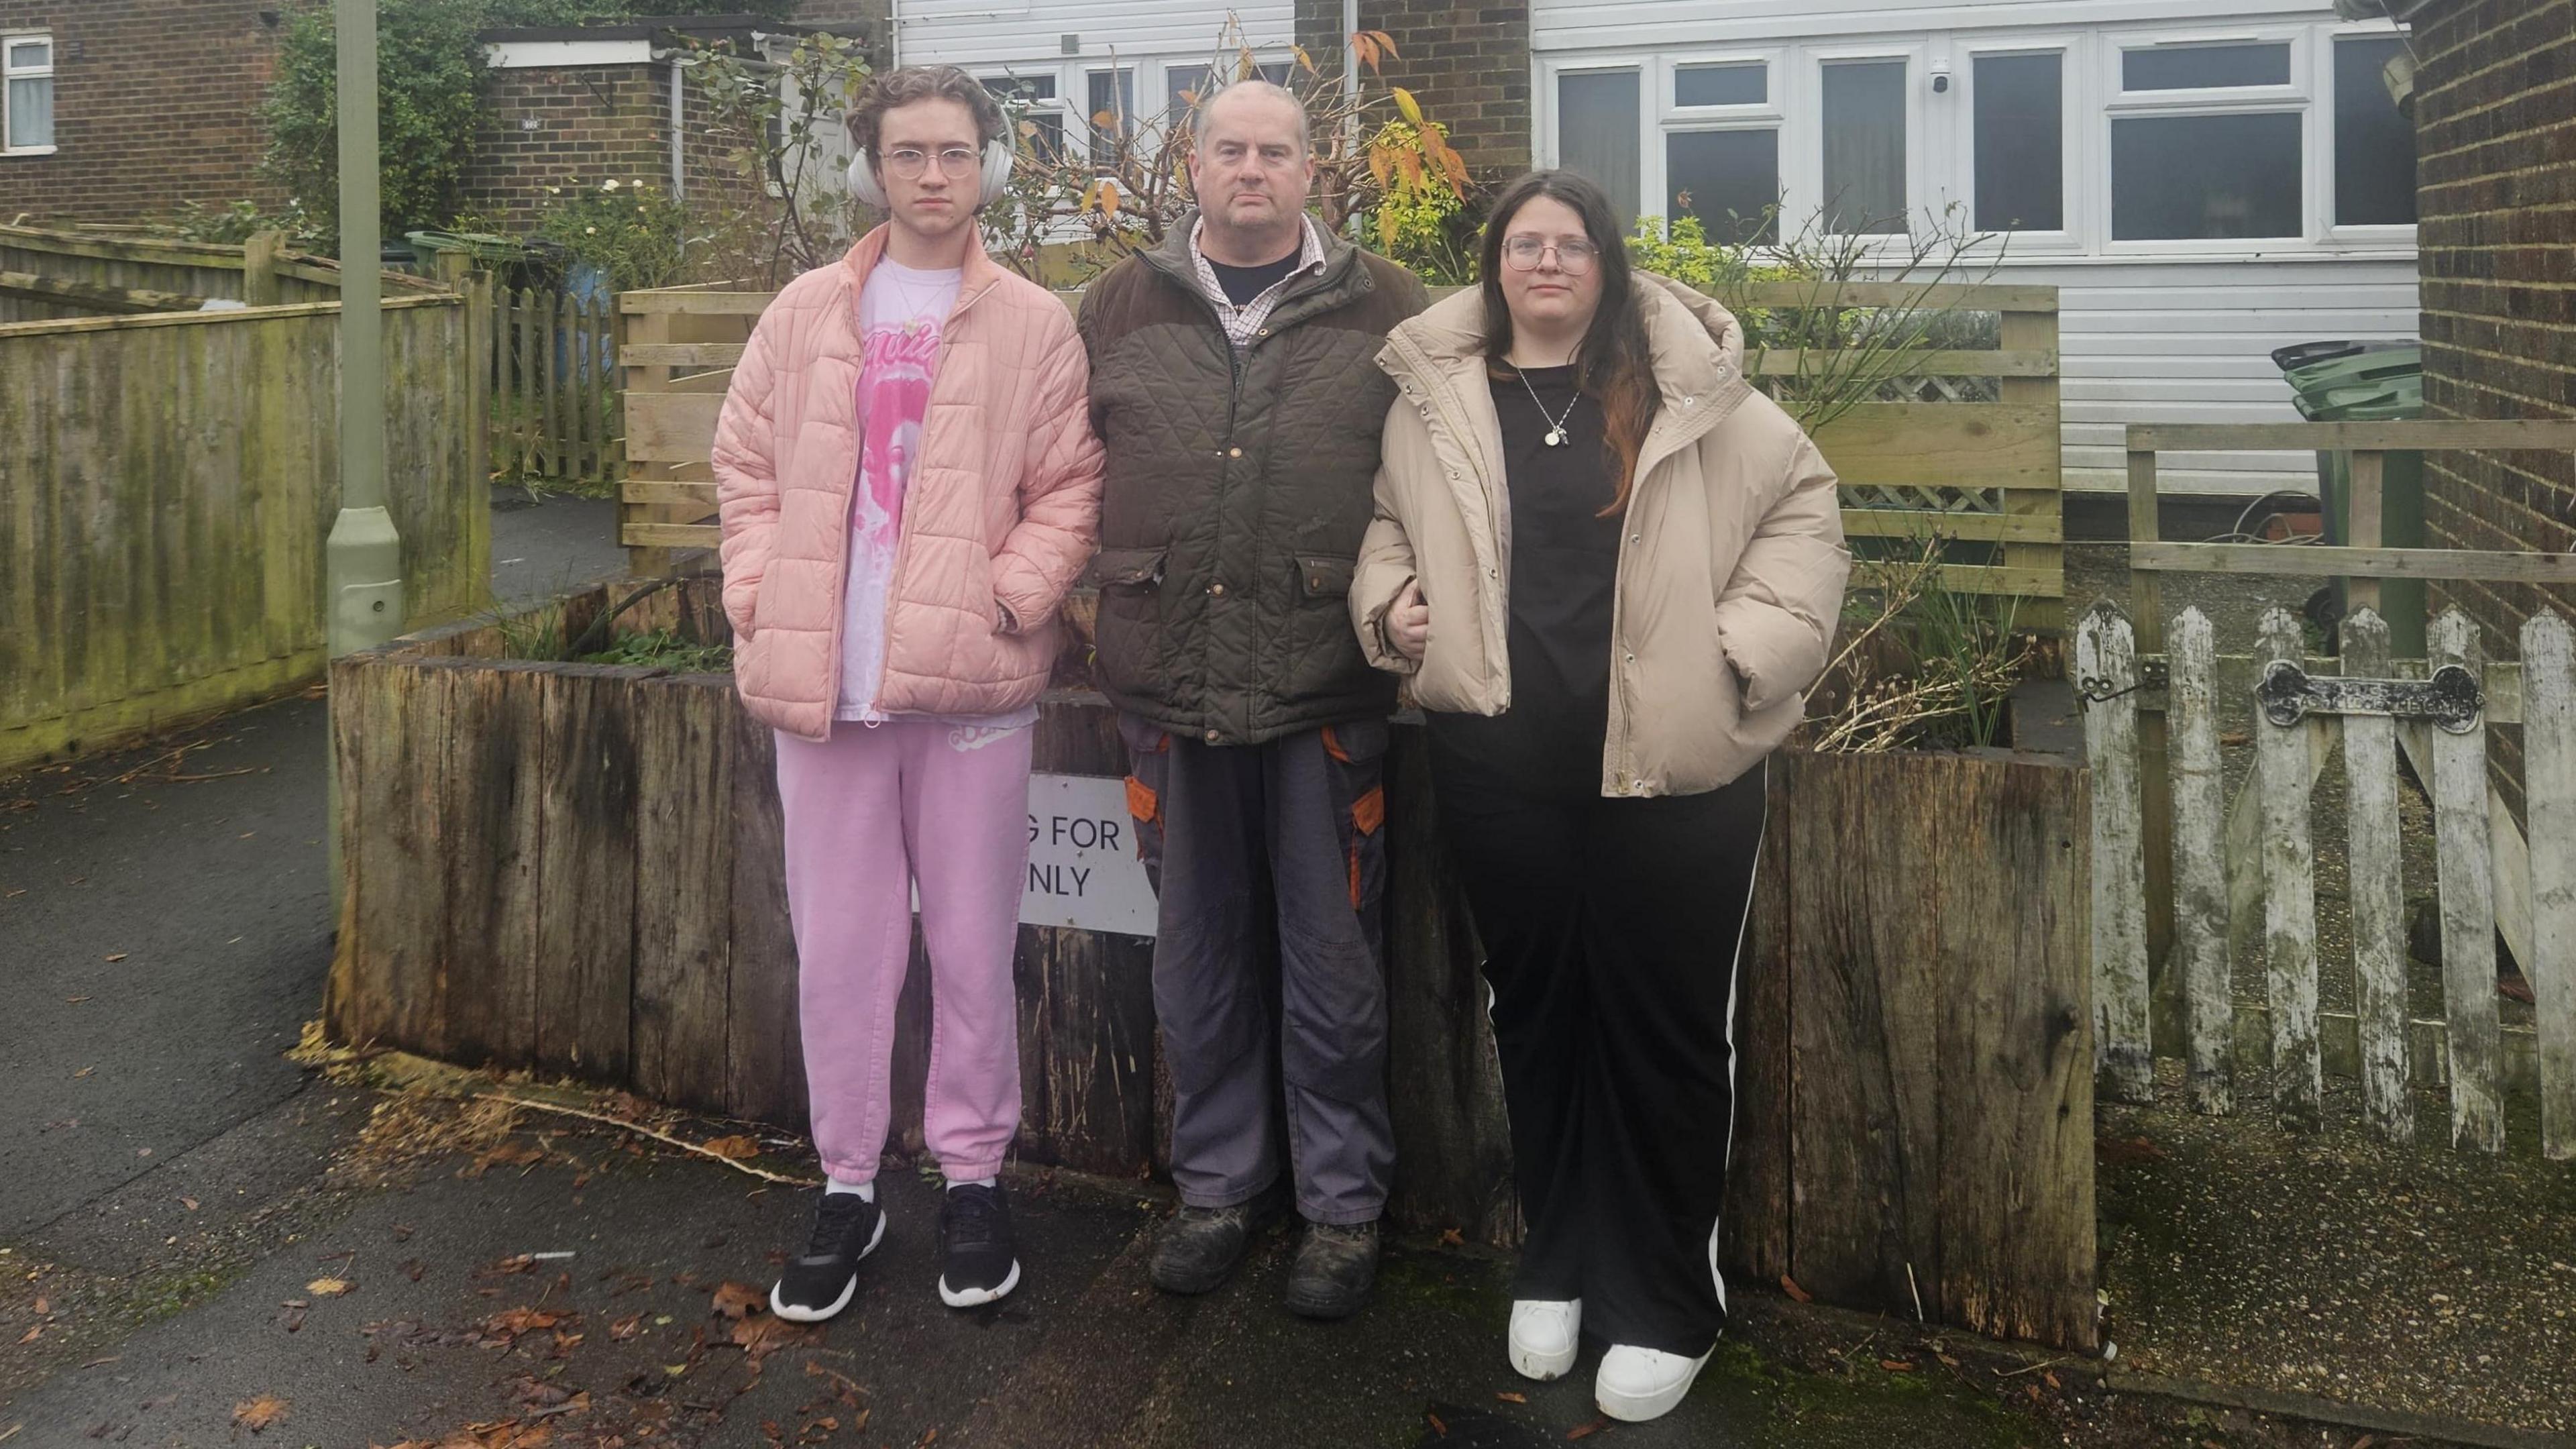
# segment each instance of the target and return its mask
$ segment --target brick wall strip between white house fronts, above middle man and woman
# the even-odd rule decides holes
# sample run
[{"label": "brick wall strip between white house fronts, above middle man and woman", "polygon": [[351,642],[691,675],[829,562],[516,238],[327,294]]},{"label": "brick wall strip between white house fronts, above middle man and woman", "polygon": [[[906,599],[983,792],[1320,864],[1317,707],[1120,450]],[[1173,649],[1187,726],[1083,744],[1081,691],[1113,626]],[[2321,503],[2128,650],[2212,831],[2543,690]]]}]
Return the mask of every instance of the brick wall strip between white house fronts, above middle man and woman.
[{"label": "brick wall strip between white house fronts, above middle man and woman", "polygon": [[[1360,28],[1396,41],[1378,77],[1412,90],[1479,178],[1530,168],[1528,0],[1360,0]],[[1340,0],[1296,0],[1296,39],[1316,64],[1340,72],[1347,57]]]}]

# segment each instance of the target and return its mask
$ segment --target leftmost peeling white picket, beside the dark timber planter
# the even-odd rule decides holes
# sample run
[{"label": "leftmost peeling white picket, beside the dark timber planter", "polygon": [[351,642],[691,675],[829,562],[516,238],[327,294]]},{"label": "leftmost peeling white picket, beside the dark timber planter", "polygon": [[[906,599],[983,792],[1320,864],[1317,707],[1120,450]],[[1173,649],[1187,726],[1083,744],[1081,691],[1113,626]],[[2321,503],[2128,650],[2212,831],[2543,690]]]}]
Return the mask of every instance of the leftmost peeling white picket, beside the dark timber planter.
[{"label": "leftmost peeling white picket, beside the dark timber planter", "polygon": [[2094,606],[2076,627],[2076,681],[2092,792],[2094,1067],[2115,1101],[2154,1101],[2156,1057],[2146,1011],[2146,871],[2138,794],[2138,647],[2115,608]]}]

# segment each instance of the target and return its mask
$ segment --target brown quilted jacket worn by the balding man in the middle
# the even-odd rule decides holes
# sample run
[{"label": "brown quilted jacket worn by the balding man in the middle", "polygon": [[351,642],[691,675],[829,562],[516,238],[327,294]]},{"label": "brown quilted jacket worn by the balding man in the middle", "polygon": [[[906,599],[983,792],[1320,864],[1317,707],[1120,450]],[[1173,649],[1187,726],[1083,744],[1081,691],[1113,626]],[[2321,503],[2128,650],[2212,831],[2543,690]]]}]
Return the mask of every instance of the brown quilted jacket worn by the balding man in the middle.
[{"label": "brown quilted jacket worn by the balding man in the middle", "polygon": [[1082,299],[1100,492],[1100,681],[1164,730],[1257,745],[1383,717],[1345,598],[1396,384],[1370,361],[1422,312],[1404,268],[1327,237],[1236,358],[1193,219]]}]

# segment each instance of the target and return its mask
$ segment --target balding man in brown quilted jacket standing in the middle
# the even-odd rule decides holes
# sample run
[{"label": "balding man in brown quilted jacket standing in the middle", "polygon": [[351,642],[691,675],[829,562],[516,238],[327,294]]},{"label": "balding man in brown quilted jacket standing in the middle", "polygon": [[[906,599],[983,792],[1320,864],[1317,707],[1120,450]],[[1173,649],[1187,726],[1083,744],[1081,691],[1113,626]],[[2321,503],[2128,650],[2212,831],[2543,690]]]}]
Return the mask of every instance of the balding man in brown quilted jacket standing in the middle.
[{"label": "balding man in brown quilted jacket standing in the middle", "polygon": [[1394,688],[1345,598],[1394,402],[1373,358],[1425,294],[1306,219],[1306,111],[1278,85],[1206,103],[1190,178],[1200,211],[1082,307],[1108,449],[1100,673],[1162,895],[1154,1011],[1182,1209],[1151,1276],[1213,1289],[1293,1199],[1288,1307],[1347,1318],[1376,1279],[1394,1168],[1378,964]]}]

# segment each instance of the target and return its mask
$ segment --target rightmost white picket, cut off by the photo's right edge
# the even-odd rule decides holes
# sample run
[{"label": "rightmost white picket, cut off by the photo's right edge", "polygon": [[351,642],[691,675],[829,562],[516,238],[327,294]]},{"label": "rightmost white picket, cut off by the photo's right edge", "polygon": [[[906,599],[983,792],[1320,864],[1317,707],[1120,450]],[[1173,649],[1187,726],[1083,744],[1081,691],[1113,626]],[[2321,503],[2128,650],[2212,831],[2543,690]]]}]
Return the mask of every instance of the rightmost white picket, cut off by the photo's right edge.
[{"label": "rightmost white picket, cut off by the photo's right edge", "polygon": [[2532,817],[2532,980],[2540,1036],[2540,1150],[2576,1160],[2576,634],[2555,614],[2522,624],[2522,768]]}]

